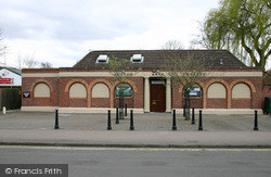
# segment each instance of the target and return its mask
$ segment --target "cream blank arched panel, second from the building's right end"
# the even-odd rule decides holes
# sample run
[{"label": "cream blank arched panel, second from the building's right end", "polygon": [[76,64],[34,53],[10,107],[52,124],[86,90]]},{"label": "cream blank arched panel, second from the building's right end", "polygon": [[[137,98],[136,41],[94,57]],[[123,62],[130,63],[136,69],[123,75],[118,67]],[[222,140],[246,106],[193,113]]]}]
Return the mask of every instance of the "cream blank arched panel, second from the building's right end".
[{"label": "cream blank arched panel, second from the building's right end", "polygon": [[215,83],[209,86],[207,90],[207,98],[209,99],[224,99],[225,98],[225,88],[220,83]]}]

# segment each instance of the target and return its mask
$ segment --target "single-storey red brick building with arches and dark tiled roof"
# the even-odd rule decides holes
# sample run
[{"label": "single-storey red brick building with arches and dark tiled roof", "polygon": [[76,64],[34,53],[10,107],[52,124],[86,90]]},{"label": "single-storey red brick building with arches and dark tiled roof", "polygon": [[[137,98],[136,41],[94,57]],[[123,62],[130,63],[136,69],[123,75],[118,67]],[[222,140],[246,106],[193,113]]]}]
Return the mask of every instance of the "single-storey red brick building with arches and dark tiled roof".
[{"label": "single-storey red brick building with arches and dark tiled roof", "polygon": [[[134,112],[182,112],[182,87],[173,87],[166,72],[165,50],[91,51],[74,67],[23,69],[22,111],[106,112],[118,105],[118,83],[108,72],[112,55],[128,59],[142,68],[127,79],[125,102]],[[191,94],[191,105],[205,113],[253,113],[261,109],[262,72],[247,67],[227,50],[182,50],[181,59],[193,54],[211,65],[211,75],[197,83]]]}]

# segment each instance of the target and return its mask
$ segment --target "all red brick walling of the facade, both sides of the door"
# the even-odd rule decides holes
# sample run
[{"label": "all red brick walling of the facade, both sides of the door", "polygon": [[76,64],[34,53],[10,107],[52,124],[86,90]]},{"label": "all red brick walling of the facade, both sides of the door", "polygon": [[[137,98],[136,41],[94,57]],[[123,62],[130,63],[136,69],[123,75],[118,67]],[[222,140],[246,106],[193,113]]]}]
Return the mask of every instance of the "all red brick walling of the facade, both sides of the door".
[{"label": "all red brick walling of the facade, both sides of the door", "polygon": [[[61,68],[64,69],[64,68]],[[24,73],[57,73],[60,69],[23,69]],[[64,69],[65,71],[65,69]],[[64,72],[63,71],[63,72]],[[70,72],[79,72],[76,69],[70,69]],[[86,72],[86,71],[85,71]],[[27,105],[37,105],[37,106],[82,106],[82,108],[109,108],[111,101],[114,106],[116,104],[118,105],[118,99],[115,98],[115,96],[112,96],[111,91],[111,99],[98,99],[98,98],[90,98],[91,97],[91,88],[87,88],[88,91],[88,98],[87,99],[69,99],[68,96],[68,88],[67,84],[70,80],[82,80],[87,87],[91,87],[91,84],[95,80],[107,80],[111,84],[109,90],[114,89],[115,87],[115,80],[113,78],[108,77],[99,77],[99,78],[91,78],[91,77],[44,77],[44,78],[38,78],[38,77],[23,77],[22,80],[22,91],[29,91],[30,98],[25,99],[23,98],[22,104],[23,106]],[[205,91],[207,88],[205,88],[205,85],[210,80],[223,80],[227,83],[227,91],[233,87],[233,83],[235,80],[248,80],[255,87],[255,92],[251,90],[251,99],[207,99],[204,98]],[[133,97],[132,98],[126,98],[126,101],[128,103],[128,108],[137,108],[137,109],[143,109],[144,106],[144,85],[143,85],[143,77],[132,77],[129,78],[129,80],[134,86],[136,90],[133,90]],[[49,84],[51,89],[51,97],[50,98],[34,98],[34,90],[35,84],[38,81]],[[230,100],[231,108],[232,109],[240,109],[240,108],[253,108],[253,109],[261,109],[263,103],[264,97],[271,97],[271,90],[269,90],[270,87],[263,87],[262,80],[259,77],[208,77],[201,80],[203,83],[203,91],[202,91],[202,98],[191,98],[191,105],[194,108],[204,108],[204,99],[206,99],[206,108],[207,109],[227,109],[228,102]],[[263,90],[262,90],[263,88]],[[67,90],[65,90],[67,89]],[[205,90],[205,91],[204,91]],[[231,90],[230,90],[231,91]],[[228,91],[229,93],[229,91]],[[114,91],[113,91],[114,94]],[[60,101],[61,100],[61,101]],[[183,97],[180,92],[180,88],[172,87],[172,108],[173,109],[181,109],[183,108]]]}]

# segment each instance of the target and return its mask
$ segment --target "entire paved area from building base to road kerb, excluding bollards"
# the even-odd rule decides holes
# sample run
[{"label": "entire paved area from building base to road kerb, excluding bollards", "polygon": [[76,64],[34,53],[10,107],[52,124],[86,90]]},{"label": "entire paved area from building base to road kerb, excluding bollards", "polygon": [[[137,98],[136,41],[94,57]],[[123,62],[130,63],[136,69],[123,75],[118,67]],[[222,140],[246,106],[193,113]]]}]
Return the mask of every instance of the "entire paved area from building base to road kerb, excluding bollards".
[{"label": "entire paved area from building base to road kerb, excluding bollards", "polygon": [[[129,117],[129,115],[128,115]],[[271,148],[271,116],[259,115],[259,130],[254,131],[254,115],[203,115],[203,131],[177,115],[176,131],[168,113],[134,115],[134,130],[129,118],[107,128],[106,114],[60,114],[60,129],[54,129],[53,113],[8,112],[0,115],[0,144],[98,146],[98,147],[176,147],[176,148]]]}]

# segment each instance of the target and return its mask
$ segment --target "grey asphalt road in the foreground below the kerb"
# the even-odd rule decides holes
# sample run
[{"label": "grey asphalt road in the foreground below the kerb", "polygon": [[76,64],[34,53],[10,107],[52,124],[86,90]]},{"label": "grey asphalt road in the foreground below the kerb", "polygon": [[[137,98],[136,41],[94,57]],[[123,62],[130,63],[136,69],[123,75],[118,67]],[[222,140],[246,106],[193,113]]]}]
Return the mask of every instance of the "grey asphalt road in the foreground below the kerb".
[{"label": "grey asphalt road in the foreground below the kerb", "polygon": [[271,149],[0,147],[1,164],[68,164],[69,177],[270,176]]}]

